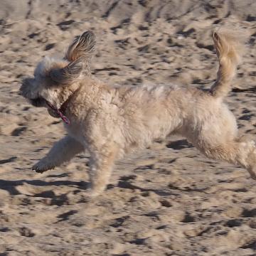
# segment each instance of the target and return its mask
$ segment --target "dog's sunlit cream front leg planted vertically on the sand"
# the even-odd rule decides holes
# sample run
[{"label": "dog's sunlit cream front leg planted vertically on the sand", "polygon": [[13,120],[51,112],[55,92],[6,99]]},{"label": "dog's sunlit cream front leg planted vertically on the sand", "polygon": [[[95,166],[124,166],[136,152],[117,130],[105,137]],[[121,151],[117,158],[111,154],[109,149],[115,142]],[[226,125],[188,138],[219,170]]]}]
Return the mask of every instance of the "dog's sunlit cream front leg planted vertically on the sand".
[{"label": "dog's sunlit cream front leg planted vertically on the sand", "polygon": [[118,146],[107,143],[100,149],[90,147],[90,196],[102,193],[112,173],[114,160],[117,158]]}]

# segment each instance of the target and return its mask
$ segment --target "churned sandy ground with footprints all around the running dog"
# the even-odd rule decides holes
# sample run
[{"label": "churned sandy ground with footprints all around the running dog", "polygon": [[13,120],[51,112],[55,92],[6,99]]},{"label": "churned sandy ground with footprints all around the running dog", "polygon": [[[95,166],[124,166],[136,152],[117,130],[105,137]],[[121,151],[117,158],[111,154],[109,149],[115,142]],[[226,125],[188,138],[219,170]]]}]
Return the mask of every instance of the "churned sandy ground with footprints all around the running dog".
[{"label": "churned sandy ground with footprints all around the running dog", "polygon": [[0,255],[256,255],[256,183],[244,169],[171,137],[119,161],[105,194],[88,201],[86,153],[31,170],[65,131],[18,95],[41,57],[88,29],[98,38],[93,73],[106,82],[207,88],[217,65],[210,33],[232,23],[249,43],[226,101],[255,137],[255,15],[254,0],[2,0]]}]

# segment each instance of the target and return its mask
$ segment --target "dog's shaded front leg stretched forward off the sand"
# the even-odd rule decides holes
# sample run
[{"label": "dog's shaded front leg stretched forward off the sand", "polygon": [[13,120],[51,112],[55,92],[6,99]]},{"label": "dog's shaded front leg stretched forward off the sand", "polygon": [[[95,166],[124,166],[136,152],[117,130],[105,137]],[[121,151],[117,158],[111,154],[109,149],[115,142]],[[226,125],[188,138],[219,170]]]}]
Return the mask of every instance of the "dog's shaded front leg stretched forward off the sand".
[{"label": "dog's shaded front leg stretched forward off the sand", "polygon": [[72,137],[66,136],[56,142],[46,157],[38,161],[32,169],[38,173],[43,173],[56,166],[60,166],[60,164],[63,164],[66,161],[70,161],[70,159],[81,151],[84,151],[82,144]]}]

